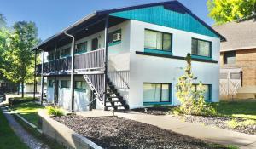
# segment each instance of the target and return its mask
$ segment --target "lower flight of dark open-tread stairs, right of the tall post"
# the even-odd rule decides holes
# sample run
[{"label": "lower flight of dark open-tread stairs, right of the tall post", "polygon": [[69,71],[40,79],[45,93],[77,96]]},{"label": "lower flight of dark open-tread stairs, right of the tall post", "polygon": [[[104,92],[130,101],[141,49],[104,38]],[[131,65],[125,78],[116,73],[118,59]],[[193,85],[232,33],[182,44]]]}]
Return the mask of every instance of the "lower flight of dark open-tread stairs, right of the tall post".
[{"label": "lower flight of dark open-tread stairs, right of the tall post", "polygon": [[129,105],[124,100],[124,98],[120,95],[118,89],[115,88],[111,80],[107,79],[107,100],[105,110],[109,110],[110,108],[114,111],[117,110],[129,110]]}]

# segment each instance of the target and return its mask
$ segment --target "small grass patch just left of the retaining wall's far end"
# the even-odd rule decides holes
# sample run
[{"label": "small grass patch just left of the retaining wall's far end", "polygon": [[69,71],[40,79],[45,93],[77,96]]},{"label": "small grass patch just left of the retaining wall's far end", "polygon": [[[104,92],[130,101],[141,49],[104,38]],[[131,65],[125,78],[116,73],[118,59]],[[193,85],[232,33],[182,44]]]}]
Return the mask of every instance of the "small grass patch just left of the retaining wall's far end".
[{"label": "small grass patch just left of the retaining wall's far end", "polygon": [[15,112],[19,112],[21,117],[24,117],[28,122],[38,126],[38,110],[44,109],[44,106],[38,105],[35,102],[26,102],[11,106]]}]

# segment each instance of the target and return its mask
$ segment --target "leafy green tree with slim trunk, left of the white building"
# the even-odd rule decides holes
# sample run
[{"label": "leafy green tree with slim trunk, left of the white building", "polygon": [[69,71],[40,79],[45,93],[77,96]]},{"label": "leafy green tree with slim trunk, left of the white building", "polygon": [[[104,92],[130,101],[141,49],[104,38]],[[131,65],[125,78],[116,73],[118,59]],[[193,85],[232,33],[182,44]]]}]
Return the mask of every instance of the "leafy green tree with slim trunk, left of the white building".
[{"label": "leafy green tree with slim trunk, left of the white building", "polygon": [[38,29],[33,22],[19,21],[12,26],[8,37],[8,49],[3,52],[3,76],[21,84],[24,97],[24,84],[32,80],[33,52],[38,43]]}]

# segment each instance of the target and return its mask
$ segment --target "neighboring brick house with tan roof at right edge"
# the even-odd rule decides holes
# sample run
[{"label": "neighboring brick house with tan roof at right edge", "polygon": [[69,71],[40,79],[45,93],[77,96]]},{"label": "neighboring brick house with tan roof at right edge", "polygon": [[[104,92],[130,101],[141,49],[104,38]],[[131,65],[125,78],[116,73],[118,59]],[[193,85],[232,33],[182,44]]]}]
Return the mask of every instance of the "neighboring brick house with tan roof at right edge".
[{"label": "neighboring brick house with tan roof at right edge", "polygon": [[236,96],[237,92],[238,98],[255,98],[256,21],[254,18],[213,27],[226,38],[226,42],[220,45],[220,88],[224,91],[223,95]]}]

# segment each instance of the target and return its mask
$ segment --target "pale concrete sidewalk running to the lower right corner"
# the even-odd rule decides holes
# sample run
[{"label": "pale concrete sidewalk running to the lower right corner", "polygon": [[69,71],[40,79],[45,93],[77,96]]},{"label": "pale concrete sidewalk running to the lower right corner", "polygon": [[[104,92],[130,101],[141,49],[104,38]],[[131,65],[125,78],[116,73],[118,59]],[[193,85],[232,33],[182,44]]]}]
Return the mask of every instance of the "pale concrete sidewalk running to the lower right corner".
[{"label": "pale concrete sidewalk running to the lower right corner", "polygon": [[161,129],[168,129],[179,134],[189,135],[202,140],[222,145],[235,145],[241,149],[256,149],[256,135],[247,135],[227,129],[203,126],[198,123],[187,123],[176,117],[153,116],[139,112],[115,112],[119,117],[125,117],[141,123],[148,123]]}]

